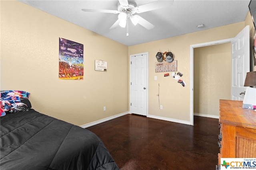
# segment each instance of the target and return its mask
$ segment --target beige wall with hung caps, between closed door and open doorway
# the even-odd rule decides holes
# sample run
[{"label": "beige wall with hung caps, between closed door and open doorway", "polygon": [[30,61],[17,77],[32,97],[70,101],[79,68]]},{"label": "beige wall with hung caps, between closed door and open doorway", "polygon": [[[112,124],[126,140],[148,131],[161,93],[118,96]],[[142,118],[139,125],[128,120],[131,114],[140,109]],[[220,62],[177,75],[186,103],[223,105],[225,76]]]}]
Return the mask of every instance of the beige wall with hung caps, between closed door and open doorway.
[{"label": "beige wall with hung caps, between closed door and open doorway", "polygon": [[[186,35],[171,37],[140,45],[129,47],[129,55],[148,52],[149,54],[149,87],[148,87],[148,114],[190,121],[190,45],[206,43],[221,39],[235,37],[245,27],[244,22],[206,29]],[[170,30],[171,31],[171,30]],[[182,80],[186,83],[183,87],[177,83],[171,76],[164,77],[164,73],[155,72],[156,53],[159,49],[164,52],[168,49],[174,54],[174,60],[177,60],[178,70],[182,74]],[[158,79],[154,80],[154,76]],[[160,84],[160,104],[158,106],[158,83]],[[209,87],[211,88],[211,87]]]}]

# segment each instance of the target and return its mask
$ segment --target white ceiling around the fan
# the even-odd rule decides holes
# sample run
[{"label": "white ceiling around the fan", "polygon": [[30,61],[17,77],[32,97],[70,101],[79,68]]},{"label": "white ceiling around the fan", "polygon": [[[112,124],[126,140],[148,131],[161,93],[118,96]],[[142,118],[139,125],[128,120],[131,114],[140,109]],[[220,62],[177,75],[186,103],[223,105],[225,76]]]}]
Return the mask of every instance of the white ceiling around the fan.
[{"label": "white ceiling around the fan", "polygon": [[[118,0],[20,1],[127,46],[244,21],[250,3],[250,0],[174,0],[172,6],[138,14],[155,25],[153,29],[147,30],[139,24],[134,26],[129,22],[129,36],[126,36],[126,28],[118,26],[109,29],[118,19],[118,14],[81,10],[117,10]],[[155,0],[135,1],[140,6]],[[200,24],[205,26],[197,28]]]}]

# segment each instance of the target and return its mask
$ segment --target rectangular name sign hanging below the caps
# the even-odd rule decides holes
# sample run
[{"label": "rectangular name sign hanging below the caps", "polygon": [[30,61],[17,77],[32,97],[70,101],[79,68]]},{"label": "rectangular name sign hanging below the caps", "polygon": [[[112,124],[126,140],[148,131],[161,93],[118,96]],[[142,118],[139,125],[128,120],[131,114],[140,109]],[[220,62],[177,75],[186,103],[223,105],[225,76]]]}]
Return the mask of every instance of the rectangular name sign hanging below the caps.
[{"label": "rectangular name sign hanging below the caps", "polygon": [[177,60],[172,62],[159,62],[156,63],[156,72],[174,72],[177,71]]}]

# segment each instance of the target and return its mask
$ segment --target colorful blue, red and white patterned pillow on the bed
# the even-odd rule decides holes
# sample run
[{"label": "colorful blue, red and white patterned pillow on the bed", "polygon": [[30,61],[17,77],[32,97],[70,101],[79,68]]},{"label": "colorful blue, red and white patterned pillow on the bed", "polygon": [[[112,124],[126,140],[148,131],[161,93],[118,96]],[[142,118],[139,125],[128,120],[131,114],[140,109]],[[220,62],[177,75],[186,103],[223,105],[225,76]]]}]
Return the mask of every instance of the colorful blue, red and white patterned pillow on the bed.
[{"label": "colorful blue, red and white patterned pillow on the bed", "polygon": [[[31,103],[28,100],[30,93],[18,90],[0,91],[0,103],[3,115],[5,113],[16,113],[25,111],[31,108]],[[2,116],[2,111],[1,111]]]}]

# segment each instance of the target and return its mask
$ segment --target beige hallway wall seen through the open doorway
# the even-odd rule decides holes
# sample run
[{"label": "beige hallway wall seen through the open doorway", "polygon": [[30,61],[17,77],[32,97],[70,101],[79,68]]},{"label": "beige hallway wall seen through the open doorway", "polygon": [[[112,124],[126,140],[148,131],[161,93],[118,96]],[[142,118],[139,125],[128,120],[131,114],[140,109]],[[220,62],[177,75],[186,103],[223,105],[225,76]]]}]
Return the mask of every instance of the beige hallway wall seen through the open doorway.
[{"label": "beige hallway wall seen through the open doorway", "polygon": [[231,98],[231,43],[194,48],[194,113],[219,115]]}]

